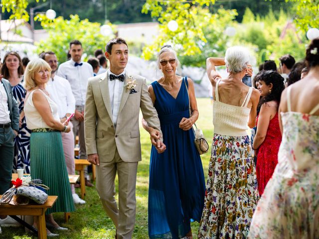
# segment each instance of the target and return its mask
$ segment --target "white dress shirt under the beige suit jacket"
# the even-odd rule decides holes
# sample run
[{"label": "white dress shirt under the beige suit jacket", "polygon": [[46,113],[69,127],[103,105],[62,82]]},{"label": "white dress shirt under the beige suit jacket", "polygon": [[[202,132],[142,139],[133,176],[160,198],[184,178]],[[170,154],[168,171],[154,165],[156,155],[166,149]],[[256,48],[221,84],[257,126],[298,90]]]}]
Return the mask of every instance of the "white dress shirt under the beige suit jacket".
[{"label": "white dress shirt under the beige suit jacket", "polygon": [[[114,126],[116,127],[122,93],[123,93],[124,82],[119,81],[118,79],[111,81],[110,74],[112,75],[115,75],[115,74],[113,74],[110,71],[110,69],[108,70],[108,73],[109,73],[109,94],[110,94],[110,102],[112,107],[112,118],[113,118]],[[125,75],[125,71],[123,71],[120,75]]]}]

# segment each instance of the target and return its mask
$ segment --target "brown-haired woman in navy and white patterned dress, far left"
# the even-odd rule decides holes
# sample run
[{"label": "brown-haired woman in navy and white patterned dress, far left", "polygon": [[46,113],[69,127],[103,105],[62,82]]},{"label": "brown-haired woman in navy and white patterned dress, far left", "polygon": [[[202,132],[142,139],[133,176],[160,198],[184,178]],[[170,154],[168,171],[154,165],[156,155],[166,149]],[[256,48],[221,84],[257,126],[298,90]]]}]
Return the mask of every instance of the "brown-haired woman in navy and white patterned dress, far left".
[{"label": "brown-haired woman in navy and white patterned dress, far left", "polygon": [[24,98],[26,91],[21,82],[23,79],[23,65],[21,58],[15,51],[9,51],[5,54],[0,74],[7,79],[12,86],[13,97],[18,103],[20,119],[18,135],[14,138],[14,159],[13,170],[23,168],[24,173],[30,173],[30,133],[26,127],[24,117]]}]

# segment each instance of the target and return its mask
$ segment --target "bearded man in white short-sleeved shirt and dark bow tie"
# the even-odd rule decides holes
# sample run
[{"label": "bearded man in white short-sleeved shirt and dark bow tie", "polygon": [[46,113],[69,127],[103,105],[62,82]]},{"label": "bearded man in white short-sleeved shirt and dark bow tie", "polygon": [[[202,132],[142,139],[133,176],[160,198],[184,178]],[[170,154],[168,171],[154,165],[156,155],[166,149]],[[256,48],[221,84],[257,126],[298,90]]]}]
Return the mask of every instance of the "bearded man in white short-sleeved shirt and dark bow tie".
[{"label": "bearded man in white short-sleeved shirt and dark bow tie", "polygon": [[[88,79],[93,77],[93,68],[87,63],[81,61],[83,54],[82,44],[78,40],[70,42],[69,53],[71,59],[59,66],[57,75],[69,81],[72,93],[75,98],[75,115],[72,119],[74,136],[79,135],[79,158],[86,159],[85,139],[84,139],[84,105],[86,98],[86,88]],[[86,186],[93,186],[88,181],[86,175]]]}]

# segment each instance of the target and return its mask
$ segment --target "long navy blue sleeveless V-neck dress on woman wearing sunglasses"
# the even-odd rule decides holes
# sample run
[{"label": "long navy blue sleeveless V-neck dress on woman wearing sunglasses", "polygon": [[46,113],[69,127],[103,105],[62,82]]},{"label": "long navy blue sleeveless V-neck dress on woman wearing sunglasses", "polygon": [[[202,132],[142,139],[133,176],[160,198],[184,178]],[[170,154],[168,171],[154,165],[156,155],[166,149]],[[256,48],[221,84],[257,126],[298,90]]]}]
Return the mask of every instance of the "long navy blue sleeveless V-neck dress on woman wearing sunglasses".
[{"label": "long navy blue sleeveless V-neck dress on woman wearing sunglasses", "polygon": [[149,185],[149,236],[151,239],[180,239],[199,222],[205,196],[203,167],[194,145],[192,130],[178,127],[189,118],[187,78],[173,98],[157,81],[152,83],[155,108],[160,119],[166,150],[152,146]]}]

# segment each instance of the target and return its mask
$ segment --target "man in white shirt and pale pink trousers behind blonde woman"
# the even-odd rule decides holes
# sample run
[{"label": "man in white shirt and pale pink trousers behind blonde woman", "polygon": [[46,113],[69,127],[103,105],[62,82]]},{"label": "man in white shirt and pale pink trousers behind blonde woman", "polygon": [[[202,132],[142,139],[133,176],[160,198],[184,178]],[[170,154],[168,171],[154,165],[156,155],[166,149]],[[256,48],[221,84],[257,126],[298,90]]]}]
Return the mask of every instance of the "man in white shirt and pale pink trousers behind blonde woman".
[{"label": "man in white shirt and pale pink trousers behind blonde woman", "polygon": [[[63,123],[75,111],[75,98],[72,94],[70,83],[66,79],[55,75],[58,69],[58,61],[54,52],[44,52],[40,57],[51,67],[51,78],[46,85],[46,90],[49,92],[50,98],[57,104],[59,117],[61,123]],[[73,128],[72,122],[69,122],[69,126],[71,129]],[[61,136],[68,174],[75,174],[73,131],[71,130],[68,133],[61,132]],[[75,193],[74,185],[71,185],[71,191],[74,203],[85,204],[85,201],[80,199]]]}]

